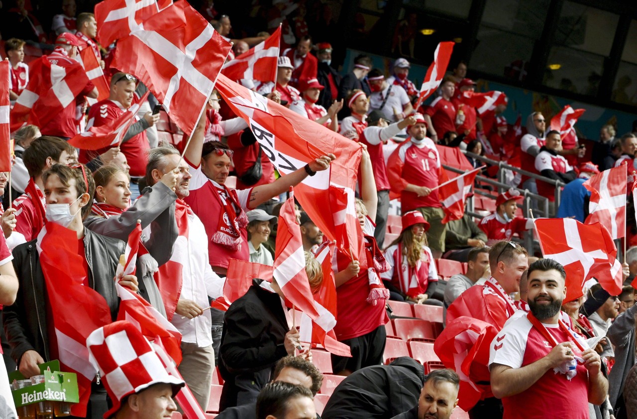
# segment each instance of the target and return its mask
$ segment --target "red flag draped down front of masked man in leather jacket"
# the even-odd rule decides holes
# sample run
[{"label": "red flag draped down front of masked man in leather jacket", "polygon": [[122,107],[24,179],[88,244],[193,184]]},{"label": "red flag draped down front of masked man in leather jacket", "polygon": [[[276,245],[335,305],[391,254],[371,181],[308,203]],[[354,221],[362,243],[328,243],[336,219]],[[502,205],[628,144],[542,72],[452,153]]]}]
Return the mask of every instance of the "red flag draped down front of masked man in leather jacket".
[{"label": "red flag draped down front of masked man in leather jacket", "polygon": [[77,374],[80,402],[71,406],[71,414],[84,417],[90,385],[97,374],[89,360],[86,339],[97,328],[111,323],[111,311],[104,297],[88,286],[76,232],[47,223],[38,235],[36,249],[47,285],[52,313],[49,321],[55,325],[62,371]]}]

